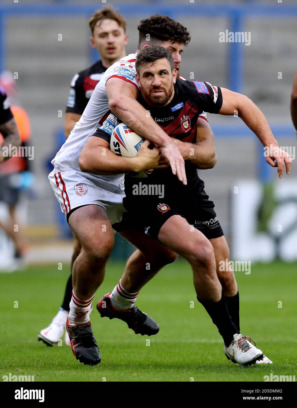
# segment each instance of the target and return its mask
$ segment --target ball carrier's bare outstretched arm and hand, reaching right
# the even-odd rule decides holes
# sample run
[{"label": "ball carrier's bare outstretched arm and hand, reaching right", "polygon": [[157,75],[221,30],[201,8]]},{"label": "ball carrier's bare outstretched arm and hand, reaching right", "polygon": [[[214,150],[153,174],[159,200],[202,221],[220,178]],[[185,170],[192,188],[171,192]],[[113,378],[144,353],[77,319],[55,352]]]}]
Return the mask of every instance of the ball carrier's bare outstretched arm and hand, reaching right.
[{"label": "ball carrier's bare outstretched arm and hand, reaching right", "polygon": [[220,115],[234,115],[234,113],[237,113],[263,144],[266,149],[266,162],[272,167],[277,167],[279,178],[282,178],[285,166],[286,173],[290,174],[292,159],[287,152],[279,149],[278,143],[260,109],[245,95],[225,88],[221,88],[221,91],[223,103],[219,111]]}]

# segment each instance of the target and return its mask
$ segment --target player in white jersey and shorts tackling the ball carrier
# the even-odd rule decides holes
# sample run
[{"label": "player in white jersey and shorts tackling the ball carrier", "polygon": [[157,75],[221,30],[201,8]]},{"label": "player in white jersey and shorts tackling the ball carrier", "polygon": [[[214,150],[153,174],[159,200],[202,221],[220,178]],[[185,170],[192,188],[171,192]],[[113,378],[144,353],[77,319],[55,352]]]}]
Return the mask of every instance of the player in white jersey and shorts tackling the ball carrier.
[{"label": "player in white jersey and shorts tackling the ball carrier", "polygon": [[[159,17],[162,20],[162,16]],[[164,47],[172,48],[171,51],[178,68],[181,51],[178,50],[176,44],[179,44],[179,47],[187,45],[190,37],[185,27],[170,20],[174,23],[174,27],[167,33],[165,39],[162,29],[162,39],[151,37],[150,44],[157,41]],[[82,253],[73,265],[74,293],[70,302],[70,310],[71,305],[78,308],[79,317],[75,318],[70,311],[69,322],[76,326],[85,322],[86,319],[88,321],[88,310],[91,305],[90,294],[93,296],[94,288],[97,288],[102,282],[104,266],[114,242],[113,235],[110,236],[110,231],[112,231],[110,221],[112,223],[120,221],[124,211],[122,204],[123,177],[86,175],[81,173],[78,163],[84,144],[97,129],[98,122],[101,124],[107,117],[110,112],[109,106],[139,134],[161,146],[163,155],[167,157],[172,166],[173,173],[177,175],[180,182],[186,184],[185,164],[176,145],[152,118],[148,117],[145,111],[143,112],[143,107],[136,101],[138,85],[135,78],[133,79],[135,77],[133,65],[135,58],[136,54],[130,54],[106,71],[92,93],[81,119],[52,161],[55,169],[49,175],[51,185],[63,213],[83,247]],[[205,125],[201,127],[203,126]],[[137,157],[133,166],[136,163],[138,166],[143,166],[144,162],[154,162],[158,157],[156,152],[150,149],[142,149],[140,155],[143,155],[142,160]],[[158,253],[158,260],[162,258],[162,263],[166,264],[172,262],[175,256],[175,254],[172,255],[172,251],[162,248]],[[143,264],[143,262],[142,257],[140,263]],[[154,257],[152,257],[153,263]],[[163,264],[160,266],[158,264],[159,268]],[[92,284],[85,289],[83,282],[92,282]],[[82,307],[84,313],[81,313],[80,306],[84,306]],[[90,327],[85,328],[85,331],[86,337],[92,336]],[[95,351],[95,355],[97,357],[95,356],[94,359],[91,356],[89,360],[88,356],[85,358],[84,355],[79,359],[86,364],[94,364],[94,361],[98,362],[99,352]]]}]

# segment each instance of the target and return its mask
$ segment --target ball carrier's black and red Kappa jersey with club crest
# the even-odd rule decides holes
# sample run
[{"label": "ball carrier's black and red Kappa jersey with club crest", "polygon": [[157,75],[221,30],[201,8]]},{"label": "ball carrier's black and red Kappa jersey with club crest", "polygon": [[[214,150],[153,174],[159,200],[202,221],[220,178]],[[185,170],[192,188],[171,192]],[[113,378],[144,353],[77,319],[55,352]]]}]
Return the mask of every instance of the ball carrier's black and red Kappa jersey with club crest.
[{"label": "ball carrier's black and red Kappa jersey with club crest", "polygon": [[[165,133],[182,142],[195,143],[197,120],[199,115],[205,111],[209,113],[219,113],[222,106],[222,92],[218,86],[213,86],[209,82],[198,81],[176,81],[174,84],[174,97],[166,106],[150,106],[142,98],[141,94],[137,99],[144,108],[150,112],[152,118],[163,128]],[[114,127],[121,122],[112,113],[97,129],[94,136],[103,138],[110,142]],[[172,191],[174,197],[195,196],[200,194],[197,190],[199,177],[194,164],[185,162],[187,175],[187,186],[184,186],[176,176],[172,174],[170,167],[166,169],[155,169],[146,178],[135,178],[125,175],[125,194],[130,195],[135,184],[165,184],[168,190]],[[190,197],[189,197],[190,198]]]}]

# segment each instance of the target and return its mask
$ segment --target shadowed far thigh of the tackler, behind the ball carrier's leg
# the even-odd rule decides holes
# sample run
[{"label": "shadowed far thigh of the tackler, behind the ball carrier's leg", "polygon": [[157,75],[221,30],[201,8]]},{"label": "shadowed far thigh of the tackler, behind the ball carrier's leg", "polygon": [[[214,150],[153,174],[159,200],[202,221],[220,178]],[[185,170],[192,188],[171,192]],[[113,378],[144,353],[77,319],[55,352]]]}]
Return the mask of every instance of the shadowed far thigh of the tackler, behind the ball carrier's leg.
[{"label": "shadowed far thigh of the tackler, behind the ball carrier's leg", "polygon": [[163,261],[165,264],[174,262],[178,258],[178,254],[164,245],[160,244],[158,241],[152,237],[145,235],[143,232],[139,231],[135,227],[130,227],[124,231],[120,231],[119,234],[131,242],[132,245],[143,253],[143,255],[149,259],[151,262]]}]

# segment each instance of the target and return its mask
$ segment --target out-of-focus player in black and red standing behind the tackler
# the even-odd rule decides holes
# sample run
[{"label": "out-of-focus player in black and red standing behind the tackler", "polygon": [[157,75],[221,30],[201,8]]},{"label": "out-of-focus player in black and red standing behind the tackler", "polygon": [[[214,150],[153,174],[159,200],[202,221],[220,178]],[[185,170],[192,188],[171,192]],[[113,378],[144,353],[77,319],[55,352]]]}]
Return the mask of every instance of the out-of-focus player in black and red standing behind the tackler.
[{"label": "out-of-focus player in black and red standing behind the tackler", "polygon": [[[100,60],[75,74],[71,81],[64,126],[66,139],[70,135],[76,122],[79,121],[103,73],[108,67],[114,64],[114,62],[117,62],[127,55],[125,50],[125,46],[128,44],[126,21],[121,14],[109,7],[104,7],[94,12],[90,18],[89,26],[91,30],[90,44],[92,48],[97,49]],[[50,326],[41,330],[38,335],[38,340],[42,340],[48,346],[57,344],[59,339],[63,336],[64,330],[66,330],[66,319],[73,289],[72,267],[80,251],[81,244],[74,234],[71,273],[66,284],[62,305]],[[65,344],[70,346],[67,331],[65,333]]]}]

